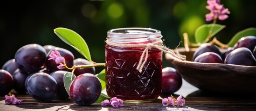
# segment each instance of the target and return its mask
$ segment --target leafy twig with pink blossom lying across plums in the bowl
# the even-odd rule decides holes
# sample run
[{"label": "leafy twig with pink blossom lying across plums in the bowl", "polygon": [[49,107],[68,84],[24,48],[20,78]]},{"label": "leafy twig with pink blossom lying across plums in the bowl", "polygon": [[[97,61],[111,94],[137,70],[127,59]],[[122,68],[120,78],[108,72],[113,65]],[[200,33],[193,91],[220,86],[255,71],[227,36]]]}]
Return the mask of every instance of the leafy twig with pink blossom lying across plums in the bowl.
[{"label": "leafy twig with pink blossom lying across plums in the bowl", "polygon": [[[194,33],[194,38],[196,43],[190,43],[189,37],[187,33],[183,34],[184,37],[184,46],[186,51],[189,51],[190,47],[199,47],[202,43],[211,43],[216,44],[223,49],[227,49],[228,47],[233,47],[234,44],[242,37],[245,36],[256,36],[256,28],[247,28],[242,31],[239,31],[232,37],[232,39],[227,43],[221,43],[217,40],[217,37],[214,37],[219,31],[224,29],[225,25],[216,24],[217,19],[225,20],[228,18],[227,14],[230,14],[228,8],[224,8],[222,4],[220,4],[220,0],[208,0],[208,6],[206,8],[210,10],[210,13],[206,14],[206,21],[213,20],[213,24],[201,25],[198,27]],[[214,38],[212,38],[214,37]]]}]

